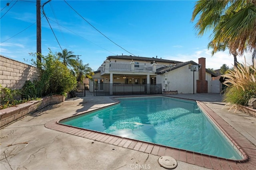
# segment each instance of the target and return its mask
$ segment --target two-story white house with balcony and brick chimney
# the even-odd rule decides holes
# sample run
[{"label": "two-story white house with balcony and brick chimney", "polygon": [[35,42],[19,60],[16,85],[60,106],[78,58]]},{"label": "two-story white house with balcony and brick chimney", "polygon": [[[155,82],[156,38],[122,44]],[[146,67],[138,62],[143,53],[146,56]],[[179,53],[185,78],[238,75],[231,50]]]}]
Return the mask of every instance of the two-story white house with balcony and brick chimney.
[{"label": "two-story white house with balcony and brick chimney", "polygon": [[205,58],[197,64],[157,57],[109,56],[94,72],[89,89],[95,95],[207,93],[211,92],[212,76],[216,74],[205,68]]}]

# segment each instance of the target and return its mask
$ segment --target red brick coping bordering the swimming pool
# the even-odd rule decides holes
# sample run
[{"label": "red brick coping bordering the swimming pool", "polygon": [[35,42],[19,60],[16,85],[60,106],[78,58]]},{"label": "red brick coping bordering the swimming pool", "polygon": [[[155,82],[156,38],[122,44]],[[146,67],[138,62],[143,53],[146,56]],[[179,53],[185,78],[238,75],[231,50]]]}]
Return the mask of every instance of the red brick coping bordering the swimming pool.
[{"label": "red brick coping bordering the swimming pool", "polygon": [[[110,104],[106,104],[105,107],[109,105]],[[48,121],[45,124],[45,127],[47,127],[48,129],[53,129],[71,135],[76,135],[87,139],[108,143],[111,145],[138,150],[140,152],[145,152],[148,154],[154,154],[157,156],[171,156],[176,160],[180,160],[182,162],[187,162],[189,164],[194,164],[196,166],[201,166],[209,169],[255,170],[256,146],[253,145],[250,141],[248,141],[248,139],[246,139],[243,135],[236,131],[226,121],[224,121],[218,114],[212,111],[212,109],[206,106],[206,104],[204,104],[203,102],[198,102],[198,105],[201,107],[201,109],[205,111],[205,113],[210,117],[210,119],[212,119],[212,121],[216,125],[218,125],[218,127],[223,131],[226,137],[228,137],[228,139],[232,141],[234,146],[236,146],[237,149],[242,153],[242,160],[228,160],[225,158],[218,158],[216,156],[201,154],[198,152],[166,147],[163,145],[119,137],[116,135],[92,131],[88,129],[82,129],[79,127],[72,127],[58,123],[58,121],[66,119],[70,116],[60,117],[58,119]]]}]

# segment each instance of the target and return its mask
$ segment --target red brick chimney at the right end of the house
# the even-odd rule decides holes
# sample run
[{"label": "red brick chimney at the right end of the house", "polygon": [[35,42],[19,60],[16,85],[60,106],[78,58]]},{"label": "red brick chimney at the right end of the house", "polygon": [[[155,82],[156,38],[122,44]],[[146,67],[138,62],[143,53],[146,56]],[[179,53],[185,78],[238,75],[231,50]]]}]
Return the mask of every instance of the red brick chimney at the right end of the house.
[{"label": "red brick chimney at the right end of the house", "polygon": [[196,92],[208,93],[208,81],[205,80],[206,78],[205,58],[203,57],[199,58],[198,64],[201,64],[201,68],[198,70],[198,80],[196,80]]}]

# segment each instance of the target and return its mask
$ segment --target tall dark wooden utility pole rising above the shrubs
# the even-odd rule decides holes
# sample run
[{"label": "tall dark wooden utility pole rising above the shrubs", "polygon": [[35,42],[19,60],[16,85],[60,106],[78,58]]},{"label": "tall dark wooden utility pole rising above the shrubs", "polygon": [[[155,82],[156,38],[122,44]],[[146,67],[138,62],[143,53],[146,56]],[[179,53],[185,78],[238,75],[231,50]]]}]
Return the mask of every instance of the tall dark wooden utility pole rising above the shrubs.
[{"label": "tall dark wooden utility pole rising above the shrubs", "polygon": [[37,66],[41,63],[41,0],[36,1],[36,58]]}]

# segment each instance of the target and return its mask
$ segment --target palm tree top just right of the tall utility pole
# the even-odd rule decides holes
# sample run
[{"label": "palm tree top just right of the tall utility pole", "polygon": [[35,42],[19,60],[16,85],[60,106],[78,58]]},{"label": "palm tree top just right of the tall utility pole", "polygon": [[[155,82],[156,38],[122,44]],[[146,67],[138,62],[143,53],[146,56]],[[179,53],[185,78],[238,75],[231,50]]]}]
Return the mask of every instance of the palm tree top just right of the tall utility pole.
[{"label": "palm tree top just right of the tall utility pole", "polygon": [[73,51],[68,51],[67,49],[64,49],[62,53],[58,52],[57,55],[65,66],[76,67],[76,55],[73,55],[73,53]]}]

